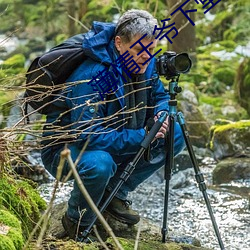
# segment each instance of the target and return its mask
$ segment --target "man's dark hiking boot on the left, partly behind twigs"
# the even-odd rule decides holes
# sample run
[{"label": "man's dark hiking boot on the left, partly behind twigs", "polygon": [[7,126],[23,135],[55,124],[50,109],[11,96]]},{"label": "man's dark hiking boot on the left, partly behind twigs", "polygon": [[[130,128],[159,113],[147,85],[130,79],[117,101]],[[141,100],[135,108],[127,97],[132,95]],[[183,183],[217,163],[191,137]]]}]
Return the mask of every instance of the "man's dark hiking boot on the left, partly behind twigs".
[{"label": "man's dark hiking boot on the left, partly behind twigs", "polygon": [[67,213],[65,213],[64,216],[62,217],[62,224],[66,232],[65,236],[68,236],[70,239],[85,243],[91,243],[97,241],[97,238],[92,234],[90,234],[85,239],[82,234],[86,229],[86,227],[80,226],[78,225],[78,223],[75,223],[75,221],[73,221],[71,218],[68,217]]}]

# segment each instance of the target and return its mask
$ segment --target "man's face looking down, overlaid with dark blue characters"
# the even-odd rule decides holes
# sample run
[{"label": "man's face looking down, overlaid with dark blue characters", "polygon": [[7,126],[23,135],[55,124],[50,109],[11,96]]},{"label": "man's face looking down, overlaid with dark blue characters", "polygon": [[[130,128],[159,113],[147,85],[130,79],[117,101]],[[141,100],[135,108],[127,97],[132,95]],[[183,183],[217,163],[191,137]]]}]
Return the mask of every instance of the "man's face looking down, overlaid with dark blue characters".
[{"label": "man's face looking down, overlaid with dark blue characters", "polygon": [[[150,58],[150,55],[146,52],[146,51],[143,51],[140,55],[137,55],[141,50],[143,50],[142,46],[140,45],[140,43],[136,43],[131,49],[129,48],[131,45],[133,45],[135,42],[137,42],[139,39],[141,38],[141,36],[137,35],[135,36],[131,42],[128,42],[128,43],[124,43],[121,39],[120,36],[116,36],[115,37],[115,46],[117,48],[117,50],[120,52],[120,55],[122,55],[123,53],[125,53],[126,51],[129,52],[130,56],[133,56],[132,59],[134,59],[134,61],[138,64],[138,66],[140,67],[140,71],[137,73],[137,74],[143,74],[149,63],[150,63],[150,60],[142,65],[144,62],[146,62],[149,58]],[[156,47],[156,44],[157,44],[157,40],[154,39],[154,40],[149,40],[147,38],[144,38],[140,41],[145,47],[153,42],[148,48],[147,50],[149,51],[149,53],[152,55],[154,54],[154,49]]]}]

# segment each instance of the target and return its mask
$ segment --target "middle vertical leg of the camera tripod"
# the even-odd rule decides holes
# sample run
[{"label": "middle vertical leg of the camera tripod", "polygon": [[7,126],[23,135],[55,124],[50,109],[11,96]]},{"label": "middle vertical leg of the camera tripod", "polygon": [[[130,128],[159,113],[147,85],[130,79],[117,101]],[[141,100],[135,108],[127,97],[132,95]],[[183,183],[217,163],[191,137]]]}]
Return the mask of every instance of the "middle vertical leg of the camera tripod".
[{"label": "middle vertical leg of the camera tripod", "polygon": [[169,115],[169,131],[166,138],[166,162],[165,162],[165,197],[164,197],[164,213],[163,213],[163,225],[162,225],[162,242],[166,242],[166,235],[168,232],[167,220],[168,220],[168,200],[169,200],[169,183],[172,176],[172,169],[174,165],[174,122],[173,115]]}]

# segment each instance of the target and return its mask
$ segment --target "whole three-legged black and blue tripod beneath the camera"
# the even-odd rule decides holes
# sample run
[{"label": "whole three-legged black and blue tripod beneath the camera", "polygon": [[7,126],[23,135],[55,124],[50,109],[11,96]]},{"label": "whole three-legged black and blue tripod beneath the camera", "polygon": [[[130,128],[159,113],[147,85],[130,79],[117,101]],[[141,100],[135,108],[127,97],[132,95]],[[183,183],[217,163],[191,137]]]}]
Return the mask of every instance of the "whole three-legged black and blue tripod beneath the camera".
[{"label": "whole three-legged black and blue tripod beneath the camera", "polygon": [[[181,130],[182,130],[185,142],[186,142],[186,146],[187,146],[191,161],[192,161],[193,166],[194,166],[196,181],[199,184],[199,189],[202,192],[203,197],[205,199],[206,206],[207,206],[207,209],[209,211],[209,215],[210,215],[210,218],[211,218],[211,221],[212,221],[212,224],[213,224],[217,239],[219,241],[220,248],[221,248],[221,250],[224,250],[225,248],[224,248],[223,242],[221,240],[221,236],[220,236],[220,233],[219,233],[219,230],[218,230],[218,226],[216,224],[216,221],[215,221],[215,218],[214,218],[214,215],[213,215],[213,211],[212,211],[212,208],[211,208],[211,205],[210,205],[210,202],[209,202],[209,199],[208,199],[208,195],[207,195],[207,192],[206,192],[206,184],[204,183],[203,175],[199,170],[198,163],[197,163],[197,160],[195,158],[195,154],[193,152],[193,149],[192,149],[192,146],[191,146],[191,143],[190,143],[190,140],[189,140],[189,135],[188,135],[188,132],[187,132],[187,129],[186,129],[184,117],[180,112],[177,113],[177,111],[176,111],[177,110],[176,109],[177,101],[176,101],[175,97],[176,97],[177,93],[181,92],[181,88],[178,86],[178,78],[177,78],[177,80],[172,79],[170,81],[170,83],[169,83],[169,94],[170,94],[169,114],[167,114],[167,112],[162,112],[161,113],[159,119],[155,122],[155,124],[151,128],[148,135],[142,141],[140,150],[135,155],[132,162],[128,163],[128,165],[124,169],[123,173],[121,174],[120,180],[117,183],[116,187],[109,194],[108,198],[102,204],[102,206],[101,206],[101,208],[99,210],[102,213],[107,208],[107,206],[110,204],[110,202],[112,201],[112,199],[114,198],[114,196],[116,195],[116,193],[118,192],[118,190],[120,189],[122,184],[129,178],[129,176],[134,171],[134,169],[136,167],[136,164],[138,163],[140,158],[143,156],[144,152],[147,150],[150,143],[155,138],[155,135],[157,134],[157,132],[161,128],[161,126],[162,126],[163,122],[165,121],[165,119],[167,118],[167,116],[169,116],[169,132],[168,132],[168,136],[166,138],[168,151],[166,153],[166,162],[165,162],[166,185],[165,185],[164,215],[163,215],[163,227],[162,227],[162,242],[163,243],[166,242],[166,234],[168,232],[168,230],[167,230],[167,214],[168,214],[169,181],[171,179],[173,163],[174,163],[174,123],[175,123],[175,119],[177,117],[178,122],[181,125]],[[90,234],[90,232],[92,230],[92,227],[94,226],[96,220],[97,220],[97,216],[94,217],[94,219],[92,220],[90,225],[82,233],[83,241],[87,240],[88,235]]]}]

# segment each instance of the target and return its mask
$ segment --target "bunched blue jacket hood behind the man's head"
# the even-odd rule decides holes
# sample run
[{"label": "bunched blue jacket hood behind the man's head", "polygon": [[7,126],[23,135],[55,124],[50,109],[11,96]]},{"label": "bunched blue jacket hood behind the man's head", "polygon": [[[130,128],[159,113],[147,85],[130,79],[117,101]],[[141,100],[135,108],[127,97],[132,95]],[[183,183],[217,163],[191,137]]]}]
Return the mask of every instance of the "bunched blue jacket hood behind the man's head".
[{"label": "bunched blue jacket hood behind the man's head", "polygon": [[115,27],[113,23],[94,21],[92,29],[85,34],[82,44],[86,55],[104,64],[112,63]]}]

